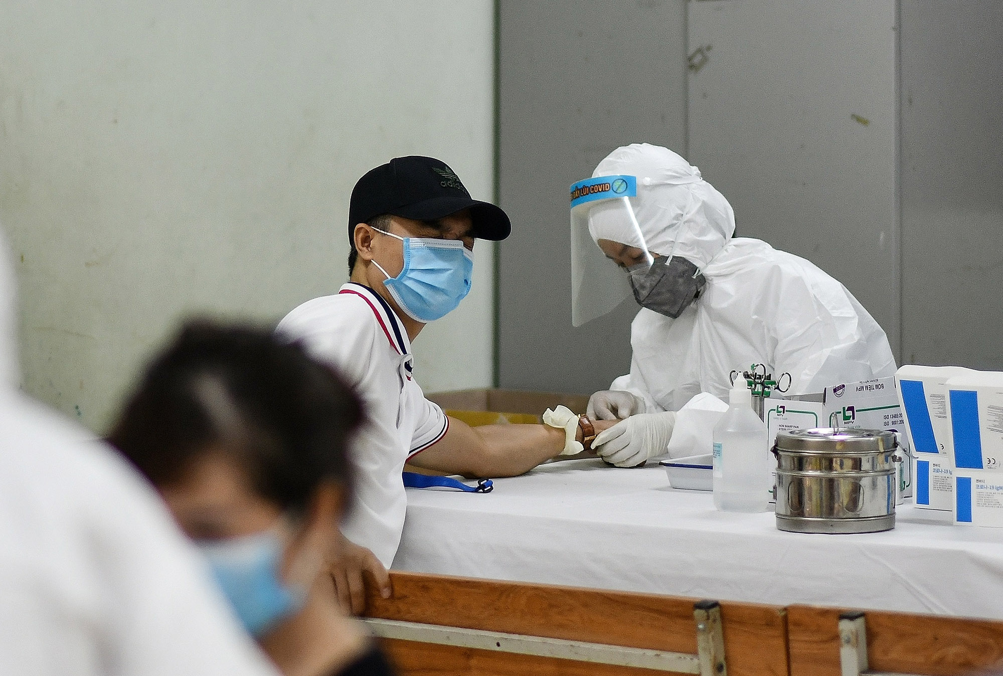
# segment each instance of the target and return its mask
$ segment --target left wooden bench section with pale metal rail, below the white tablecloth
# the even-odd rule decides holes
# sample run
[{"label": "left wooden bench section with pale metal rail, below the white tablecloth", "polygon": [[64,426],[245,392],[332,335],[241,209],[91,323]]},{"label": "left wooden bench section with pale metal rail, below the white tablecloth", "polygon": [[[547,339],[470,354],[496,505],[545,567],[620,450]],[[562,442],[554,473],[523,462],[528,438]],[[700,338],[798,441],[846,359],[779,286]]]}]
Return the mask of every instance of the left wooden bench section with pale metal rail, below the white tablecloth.
[{"label": "left wooden bench section with pale metal rail, below the white tablecloth", "polygon": [[391,573],[366,618],[405,676],[787,676],[784,610]]}]

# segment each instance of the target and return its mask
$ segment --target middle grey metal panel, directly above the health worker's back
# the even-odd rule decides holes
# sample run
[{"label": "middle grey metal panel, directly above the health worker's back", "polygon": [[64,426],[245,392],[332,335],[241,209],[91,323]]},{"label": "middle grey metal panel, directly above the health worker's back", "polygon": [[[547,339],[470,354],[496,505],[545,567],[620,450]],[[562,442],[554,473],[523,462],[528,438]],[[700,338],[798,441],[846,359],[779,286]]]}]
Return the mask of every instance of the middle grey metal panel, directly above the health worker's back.
[{"label": "middle grey metal panel, directly above the health worker's back", "polygon": [[[739,235],[802,256],[899,334],[895,0],[697,0],[689,159]],[[898,356],[898,355],[897,355]]]}]

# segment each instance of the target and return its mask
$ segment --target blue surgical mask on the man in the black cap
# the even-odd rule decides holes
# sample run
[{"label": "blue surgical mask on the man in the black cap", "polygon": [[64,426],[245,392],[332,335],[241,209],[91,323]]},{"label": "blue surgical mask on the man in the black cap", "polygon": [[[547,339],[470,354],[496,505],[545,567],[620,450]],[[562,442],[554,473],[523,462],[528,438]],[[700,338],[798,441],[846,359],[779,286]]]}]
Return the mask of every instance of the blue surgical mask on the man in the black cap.
[{"label": "blue surgical mask on the man in the black cap", "polygon": [[404,243],[404,269],[396,277],[387,275],[382,266],[373,261],[386,276],[383,286],[397,306],[411,319],[424,323],[455,310],[470,291],[473,252],[459,240],[399,237],[378,232]]}]

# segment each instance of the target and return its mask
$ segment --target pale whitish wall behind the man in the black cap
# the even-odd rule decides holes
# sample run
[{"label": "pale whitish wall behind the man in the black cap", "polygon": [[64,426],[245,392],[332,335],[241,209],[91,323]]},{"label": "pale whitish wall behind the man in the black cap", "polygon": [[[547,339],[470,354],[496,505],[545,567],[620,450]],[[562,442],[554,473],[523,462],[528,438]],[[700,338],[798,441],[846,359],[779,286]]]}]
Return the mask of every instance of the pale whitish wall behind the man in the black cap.
[{"label": "pale whitish wall behind the man in the black cap", "polygon": [[[0,4],[24,388],[102,430],[182,318],[334,292],[351,188],[394,155],[489,199],[492,34],[487,0]],[[470,296],[415,343],[426,391],[490,383],[476,253]]]}]

